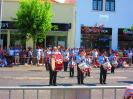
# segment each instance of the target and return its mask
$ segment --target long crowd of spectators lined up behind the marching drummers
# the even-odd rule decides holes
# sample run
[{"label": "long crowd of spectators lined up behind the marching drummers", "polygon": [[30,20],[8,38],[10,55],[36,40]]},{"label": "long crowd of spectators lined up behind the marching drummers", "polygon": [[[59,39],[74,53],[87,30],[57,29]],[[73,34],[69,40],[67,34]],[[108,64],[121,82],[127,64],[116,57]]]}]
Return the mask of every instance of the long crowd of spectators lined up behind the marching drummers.
[{"label": "long crowd of spectators lined up behind the marching drummers", "polygon": [[[63,48],[60,47],[60,52],[64,56],[67,56],[71,59],[71,56],[75,58],[81,48]],[[10,46],[9,48],[2,48],[0,46],[0,67],[14,66],[14,65],[25,65],[25,64],[37,64],[38,66],[46,65],[49,61],[50,54],[52,53],[53,48],[43,48],[37,46],[35,50],[35,55],[33,54],[33,49],[28,47],[27,50],[23,49],[21,46]],[[101,49],[83,49],[85,50],[87,57],[90,57],[93,67],[98,67],[98,56]],[[128,66],[133,63],[133,48],[130,49],[121,49],[121,50],[103,50],[107,57],[115,54],[118,61],[118,67]],[[65,61],[65,60],[64,60]]]}]

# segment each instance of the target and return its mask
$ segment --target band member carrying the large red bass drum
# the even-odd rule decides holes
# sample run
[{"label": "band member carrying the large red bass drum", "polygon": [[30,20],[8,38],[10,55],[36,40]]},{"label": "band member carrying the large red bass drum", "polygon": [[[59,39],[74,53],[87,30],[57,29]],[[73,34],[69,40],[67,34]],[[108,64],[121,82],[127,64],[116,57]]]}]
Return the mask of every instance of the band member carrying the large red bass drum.
[{"label": "band member carrying the large red bass drum", "polygon": [[57,47],[54,47],[54,52],[51,57],[51,66],[49,70],[50,79],[49,85],[56,86],[57,72],[63,68],[63,56]]}]

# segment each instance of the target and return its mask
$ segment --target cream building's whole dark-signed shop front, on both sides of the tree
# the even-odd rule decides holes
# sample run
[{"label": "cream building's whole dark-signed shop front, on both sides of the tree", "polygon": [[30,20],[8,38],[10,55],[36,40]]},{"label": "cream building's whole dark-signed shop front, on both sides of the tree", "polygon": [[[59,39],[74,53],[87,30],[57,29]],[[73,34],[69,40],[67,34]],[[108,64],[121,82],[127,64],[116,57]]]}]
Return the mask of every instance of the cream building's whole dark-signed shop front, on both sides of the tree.
[{"label": "cream building's whole dark-signed shop front, on both sides of the tree", "polygon": [[[52,29],[47,33],[46,39],[41,43],[38,41],[37,44],[42,47],[53,47],[57,45],[67,47],[68,31],[71,28],[71,23],[52,23],[52,25],[56,25],[58,29]],[[26,45],[28,42],[26,41],[26,36],[17,30],[13,21],[2,21],[0,39],[2,47],[20,45],[23,48],[27,48],[31,44]]]}]

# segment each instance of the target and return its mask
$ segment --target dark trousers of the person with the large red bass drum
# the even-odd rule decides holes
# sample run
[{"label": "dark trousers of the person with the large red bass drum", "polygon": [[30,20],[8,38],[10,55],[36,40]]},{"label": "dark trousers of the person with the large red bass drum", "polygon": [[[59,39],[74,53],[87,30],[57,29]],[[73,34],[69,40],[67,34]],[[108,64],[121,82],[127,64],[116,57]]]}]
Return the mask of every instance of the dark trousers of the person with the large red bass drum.
[{"label": "dark trousers of the person with the large red bass drum", "polygon": [[49,74],[50,74],[49,85],[56,85],[57,71],[53,71],[50,66]]}]

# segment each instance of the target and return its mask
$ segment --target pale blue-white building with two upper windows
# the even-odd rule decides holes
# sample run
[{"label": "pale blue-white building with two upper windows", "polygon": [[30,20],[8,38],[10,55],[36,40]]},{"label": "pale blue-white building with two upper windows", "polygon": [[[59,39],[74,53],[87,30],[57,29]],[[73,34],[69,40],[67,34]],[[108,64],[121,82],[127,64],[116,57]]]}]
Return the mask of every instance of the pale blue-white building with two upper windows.
[{"label": "pale blue-white building with two upper windows", "polygon": [[130,28],[133,24],[132,10],[133,0],[77,0],[75,45],[80,47],[82,25],[93,27],[103,24],[104,27],[112,28],[110,47],[117,49],[120,44],[133,47],[133,33],[130,40],[118,41],[118,30]]}]

